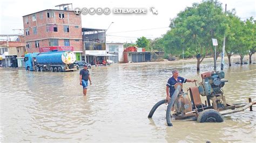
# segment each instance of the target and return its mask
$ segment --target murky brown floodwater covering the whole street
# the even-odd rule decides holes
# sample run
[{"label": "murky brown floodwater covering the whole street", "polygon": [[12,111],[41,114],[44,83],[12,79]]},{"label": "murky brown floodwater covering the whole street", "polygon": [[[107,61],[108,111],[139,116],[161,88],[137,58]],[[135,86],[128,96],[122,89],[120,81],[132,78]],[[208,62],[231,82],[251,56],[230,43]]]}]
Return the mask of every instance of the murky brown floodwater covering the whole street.
[{"label": "murky brown floodwater covering the whole street", "polygon": [[[79,85],[79,71],[0,69],[0,141],[255,142],[256,106],[252,112],[225,115],[223,123],[173,120],[169,127],[167,105],[147,118],[152,106],[165,99],[166,82],[175,68],[180,76],[201,81],[200,74],[213,70],[213,62],[205,60],[200,73],[194,61],[93,67],[86,97]],[[256,100],[256,64],[225,65],[224,71],[227,102]],[[185,83],[183,88],[190,86],[194,84]]]}]

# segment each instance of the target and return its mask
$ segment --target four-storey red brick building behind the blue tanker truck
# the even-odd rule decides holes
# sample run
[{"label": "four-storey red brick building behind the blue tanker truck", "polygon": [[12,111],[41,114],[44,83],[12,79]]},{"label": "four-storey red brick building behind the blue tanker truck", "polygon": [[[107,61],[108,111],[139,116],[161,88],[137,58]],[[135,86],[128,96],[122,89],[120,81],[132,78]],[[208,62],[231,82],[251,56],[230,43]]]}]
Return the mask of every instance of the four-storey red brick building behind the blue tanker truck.
[{"label": "four-storey red brick building behind the blue tanker truck", "polygon": [[69,50],[81,60],[81,15],[72,10],[43,10],[23,16],[26,52]]}]

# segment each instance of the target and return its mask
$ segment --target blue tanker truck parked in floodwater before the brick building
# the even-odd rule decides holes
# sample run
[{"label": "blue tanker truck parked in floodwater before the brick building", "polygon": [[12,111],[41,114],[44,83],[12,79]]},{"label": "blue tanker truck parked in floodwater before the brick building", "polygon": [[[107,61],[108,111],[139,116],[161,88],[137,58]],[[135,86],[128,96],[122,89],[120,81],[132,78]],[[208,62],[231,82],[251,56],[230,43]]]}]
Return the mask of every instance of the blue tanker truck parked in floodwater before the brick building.
[{"label": "blue tanker truck parked in floodwater before the brick building", "polygon": [[75,57],[70,51],[51,51],[25,54],[24,61],[28,71],[63,72],[76,70]]}]

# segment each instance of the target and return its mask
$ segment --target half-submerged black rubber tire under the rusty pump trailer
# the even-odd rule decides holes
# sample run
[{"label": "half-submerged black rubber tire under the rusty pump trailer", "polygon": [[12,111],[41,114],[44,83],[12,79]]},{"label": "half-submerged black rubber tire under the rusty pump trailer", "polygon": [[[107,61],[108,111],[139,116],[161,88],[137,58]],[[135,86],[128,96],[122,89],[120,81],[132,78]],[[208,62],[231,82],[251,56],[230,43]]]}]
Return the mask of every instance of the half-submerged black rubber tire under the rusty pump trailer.
[{"label": "half-submerged black rubber tire under the rusty pump trailer", "polygon": [[205,123],[205,122],[223,122],[224,118],[223,116],[214,109],[207,109],[204,110],[199,114],[197,117],[198,123]]}]

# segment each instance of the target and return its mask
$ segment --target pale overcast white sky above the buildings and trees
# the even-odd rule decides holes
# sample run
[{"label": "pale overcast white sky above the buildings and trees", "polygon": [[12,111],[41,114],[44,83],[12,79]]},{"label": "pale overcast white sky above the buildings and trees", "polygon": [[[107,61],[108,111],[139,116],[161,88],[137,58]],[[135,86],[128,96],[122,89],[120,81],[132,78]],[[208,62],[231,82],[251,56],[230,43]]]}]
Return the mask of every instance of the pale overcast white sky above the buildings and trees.
[{"label": "pale overcast white sky above the buildings and trees", "polygon": [[[139,37],[154,39],[161,37],[169,28],[170,19],[177,16],[187,6],[193,3],[200,3],[198,0],[148,0],[148,1],[74,1],[74,0],[1,0],[0,1],[0,34],[19,34],[21,31],[14,29],[23,29],[22,16],[45,9],[59,9],[55,7],[59,4],[72,3],[75,8],[109,8],[113,9],[146,9],[146,13],[113,13],[109,15],[82,15],[82,27],[107,29],[107,42],[136,42]],[[220,0],[227,4],[227,10],[235,9],[237,16],[242,20],[249,17],[256,19],[256,1],[255,0]],[[150,8],[154,7],[158,14],[154,15]],[[111,24],[112,23],[112,24]]]}]

